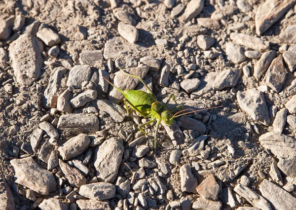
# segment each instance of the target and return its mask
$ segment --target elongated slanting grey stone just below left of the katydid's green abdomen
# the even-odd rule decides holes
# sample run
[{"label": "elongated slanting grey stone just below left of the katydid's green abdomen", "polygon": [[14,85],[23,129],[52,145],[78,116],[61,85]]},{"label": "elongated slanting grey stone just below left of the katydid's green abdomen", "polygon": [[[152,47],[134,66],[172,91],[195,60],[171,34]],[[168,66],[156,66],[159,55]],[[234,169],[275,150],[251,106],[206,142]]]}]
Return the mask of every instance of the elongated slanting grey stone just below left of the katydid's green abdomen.
[{"label": "elongated slanting grey stone just below left of the katydid's green abdomen", "polygon": [[123,109],[120,105],[117,105],[105,99],[96,100],[92,103],[92,105],[94,105],[97,109],[110,114],[111,118],[117,123],[123,122],[123,120],[127,116],[126,110]]}]

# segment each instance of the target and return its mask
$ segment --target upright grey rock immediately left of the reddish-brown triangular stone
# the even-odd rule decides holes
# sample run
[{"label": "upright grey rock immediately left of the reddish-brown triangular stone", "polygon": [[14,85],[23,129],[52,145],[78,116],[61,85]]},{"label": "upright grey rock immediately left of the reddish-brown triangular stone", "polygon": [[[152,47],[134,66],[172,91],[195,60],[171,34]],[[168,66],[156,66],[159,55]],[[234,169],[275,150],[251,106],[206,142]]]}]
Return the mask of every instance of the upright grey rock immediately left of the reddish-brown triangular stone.
[{"label": "upright grey rock immediately left of the reddish-brown triangular stone", "polygon": [[182,192],[197,193],[197,180],[192,174],[189,165],[183,165],[180,168],[181,190]]}]

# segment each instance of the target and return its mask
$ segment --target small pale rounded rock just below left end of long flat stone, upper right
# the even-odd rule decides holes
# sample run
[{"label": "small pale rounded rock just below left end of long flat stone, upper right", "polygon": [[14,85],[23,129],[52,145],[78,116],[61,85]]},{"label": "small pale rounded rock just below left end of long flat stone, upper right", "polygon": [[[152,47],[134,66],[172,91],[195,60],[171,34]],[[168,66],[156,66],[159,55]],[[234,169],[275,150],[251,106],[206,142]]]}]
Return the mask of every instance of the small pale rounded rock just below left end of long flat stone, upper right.
[{"label": "small pale rounded rock just below left end of long flat stone, upper right", "polygon": [[227,59],[234,64],[240,64],[246,60],[244,49],[232,42],[227,42],[226,44],[226,55]]}]

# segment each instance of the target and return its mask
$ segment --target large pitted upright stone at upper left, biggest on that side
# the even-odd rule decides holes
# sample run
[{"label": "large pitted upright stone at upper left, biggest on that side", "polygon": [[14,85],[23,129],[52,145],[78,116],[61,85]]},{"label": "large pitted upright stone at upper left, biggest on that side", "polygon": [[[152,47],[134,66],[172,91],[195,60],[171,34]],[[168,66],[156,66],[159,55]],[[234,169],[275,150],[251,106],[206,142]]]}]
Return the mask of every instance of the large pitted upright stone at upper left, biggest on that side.
[{"label": "large pitted upright stone at upper left, biggest on that side", "polygon": [[30,86],[41,73],[42,43],[33,35],[23,34],[9,45],[8,51],[16,81]]}]

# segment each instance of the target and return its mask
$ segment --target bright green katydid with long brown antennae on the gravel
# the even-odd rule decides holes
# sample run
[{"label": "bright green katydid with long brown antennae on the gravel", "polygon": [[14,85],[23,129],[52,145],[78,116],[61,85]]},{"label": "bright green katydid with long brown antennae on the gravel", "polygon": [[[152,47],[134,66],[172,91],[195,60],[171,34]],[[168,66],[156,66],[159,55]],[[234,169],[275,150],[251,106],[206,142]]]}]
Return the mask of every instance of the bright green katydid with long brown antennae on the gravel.
[{"label": "bright green katydid with long brown antennae on the gravel", "polygon": [[[131,77],[135,77],[135,78],[139,79],[144,84],[144,86],[147,88],[148,93],[145,91],[141,91],[141,90],[128,90],[128,89],[121,90],[120,88],[118,88],[114,84],[112,84],[107,78],[105,78],[104,76],[103,77],[104,77],[104,79],[107,80],[107,82],[109,82],[116,90],[118,90],[124,96],[123,101],[124,101],[124,105],[125,105],[127,114],[129,114],[129,110],[127,107],[127,104],[128,104],[131,106],[132,109],[134,109],[141,116],[146,117],[146,118],[150,118],[150,120],[147,123],[144,123],[139,126],[140,131],[142,131],[145,135],[148,136],[148,134],[143,130],[143,127],[156,121],[156,128],[155,128],[155,134],[154,134],[154,151],[156,149],[157,133],[158,133],[158,128],[159,128],[161,121],[163,121],[166,125],[170,126],[175,122],[175,120],[174,120],[175,117],[179,117],[181,115],[185,115],[188,113],[193,113],[193,112],[209,109],[209,108],[206,108],[206,109],[200,109],[200,110],[195,110],[195,111],[190,111],[187,113],[179,114],[179,113],[186,111],[186,110],[192,110],[191,108],[187,108],[187,109],[183,109],[181,111],[178,111],[177,113],[175,113],[173,115],[171,113],[172,111],[175,111],[181,107],[184,107],[184,105],[177,104],[177,101],[176,101],[175,96],[173,94],[171,94],[169,96],[166,104],[163,105],[162,103],[157,101],[155,95],[152,93],[150,88],[147,86],[147,84],[143,81],[143,79],[141,77],[126,73],[125,71],[123,71],[123,73],[125,73],[126,75],[129,75]],[[168,110],[167,106],[169,105],[169,102],[172,98],[177,106],[176,106],[176,108],[174,108],[172,110]],[[220,107],[220,106],[217,106],[217,107]],[[213,107],[213,108],[216,108],[216,107]]]}]

